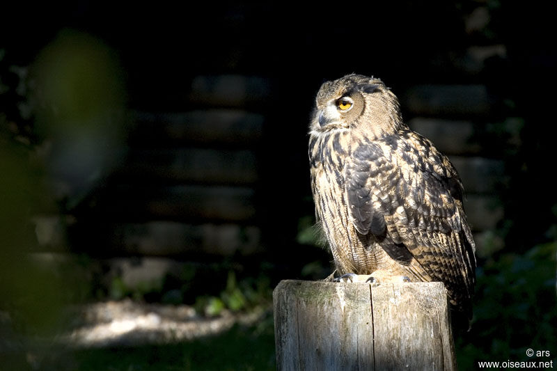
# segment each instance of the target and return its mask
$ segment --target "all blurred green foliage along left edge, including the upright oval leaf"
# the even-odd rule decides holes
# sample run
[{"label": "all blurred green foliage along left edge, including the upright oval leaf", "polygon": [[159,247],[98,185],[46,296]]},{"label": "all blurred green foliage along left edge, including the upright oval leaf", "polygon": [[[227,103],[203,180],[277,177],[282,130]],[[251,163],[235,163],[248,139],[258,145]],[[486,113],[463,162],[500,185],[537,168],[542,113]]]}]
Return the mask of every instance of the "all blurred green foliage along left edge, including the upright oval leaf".
[{"label": "all blurred green foliage along left edge, including the upright oval leaf", "polygon": [[36,339],[91,297],[79,258],[40,254],[35,218],[72,207],[118,158],[124,104],[118,63],[95,38],[63,31],[30,66],[0,49],[0,365],[33,366],[51,352]]}]

